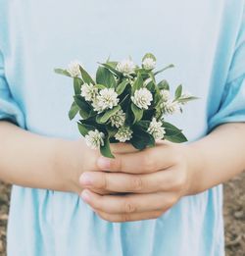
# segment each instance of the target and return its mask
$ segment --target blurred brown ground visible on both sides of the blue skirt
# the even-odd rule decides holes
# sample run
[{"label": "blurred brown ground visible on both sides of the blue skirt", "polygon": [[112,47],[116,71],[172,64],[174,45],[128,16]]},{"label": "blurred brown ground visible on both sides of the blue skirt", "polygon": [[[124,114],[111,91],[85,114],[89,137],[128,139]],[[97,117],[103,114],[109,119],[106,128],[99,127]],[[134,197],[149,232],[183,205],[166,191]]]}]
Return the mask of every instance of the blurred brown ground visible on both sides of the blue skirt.
[{"label": "blurred brown ground visible on both sides of the blue skirt", "polygon": [[[0,256],[6,256],[10,190],[0,181]],[[245,256],[245,173],[224,184],[223,215],[226,256]]]}]

